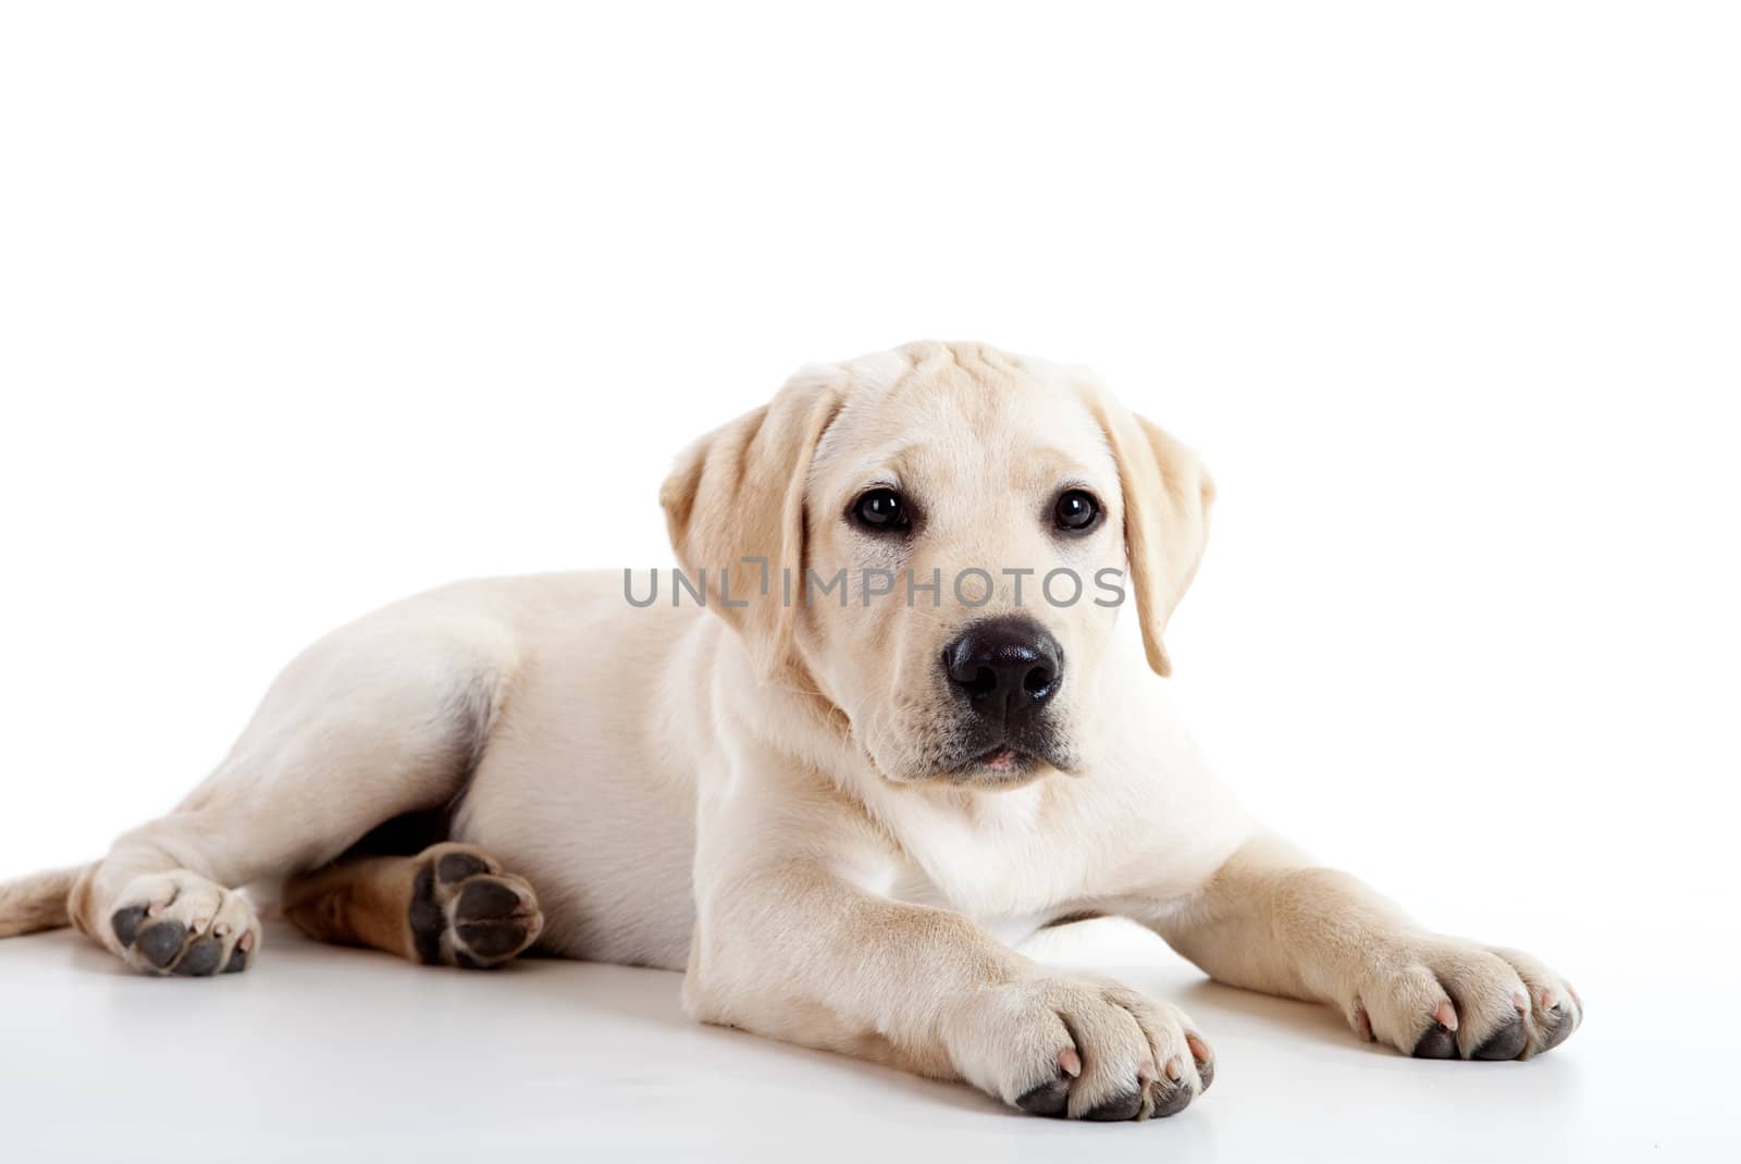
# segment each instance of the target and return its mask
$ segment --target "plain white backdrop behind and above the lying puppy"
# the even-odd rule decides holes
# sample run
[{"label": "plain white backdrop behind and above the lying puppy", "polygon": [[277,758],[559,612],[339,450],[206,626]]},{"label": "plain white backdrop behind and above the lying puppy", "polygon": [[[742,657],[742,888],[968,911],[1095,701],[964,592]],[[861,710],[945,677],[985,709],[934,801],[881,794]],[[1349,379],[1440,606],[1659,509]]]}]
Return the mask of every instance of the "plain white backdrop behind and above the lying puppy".
[{"label": "plain white backdrop behind and above the lying puppy", "polygon": [[1254,806],[1556,962],[1584,1070],[1729,1040],[1682,992],[1734,952],[1738,52],[1692,3],[7,7],[0,873],[353,614],[667,562],[670,458],[799,364],[975,338],[1207,454],[1175,689]]}]

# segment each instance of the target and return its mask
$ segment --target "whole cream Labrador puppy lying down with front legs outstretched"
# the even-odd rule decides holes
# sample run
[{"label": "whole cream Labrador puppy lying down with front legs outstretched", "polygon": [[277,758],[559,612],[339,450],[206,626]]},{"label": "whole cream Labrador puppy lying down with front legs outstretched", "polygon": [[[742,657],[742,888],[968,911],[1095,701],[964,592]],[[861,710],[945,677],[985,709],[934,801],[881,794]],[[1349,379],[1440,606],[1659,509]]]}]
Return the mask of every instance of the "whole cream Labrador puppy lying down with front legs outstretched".
[{"label": "whole cream Labrador puppy lying down with front legs outstretched", "polygon": [[282,880],[322,941],[682,969],[702,1021],[1090,1121],[1215,1074],[1179,1007],[1008,945],[1092,915],[1407,1054],[1558,1046],[1563,978],[1421,929],[1193,750],[1151,672],[1212,499],[1079,369],[961,343],[806,367],[665,480],[669,593],[468,581],[334,632],[174,813],[0,887],[0,934],[233,973],[240,887]]}]

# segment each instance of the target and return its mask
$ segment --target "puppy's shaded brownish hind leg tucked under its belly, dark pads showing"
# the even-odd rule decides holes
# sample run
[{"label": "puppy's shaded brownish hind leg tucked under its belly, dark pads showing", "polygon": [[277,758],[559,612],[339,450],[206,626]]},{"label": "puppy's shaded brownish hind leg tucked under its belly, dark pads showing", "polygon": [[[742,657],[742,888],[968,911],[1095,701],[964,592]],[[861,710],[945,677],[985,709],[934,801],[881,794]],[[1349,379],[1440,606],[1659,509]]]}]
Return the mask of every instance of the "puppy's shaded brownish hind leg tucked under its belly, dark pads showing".
[{"label": "puppy's shaded brownish hind leg tucked under its belly, dark pads showing", "polygon": [[294,875],[284,882],[284,915],[319,941],[465,969],[501,966],[543,927],[524,879],[477,846],[451,842]]}]

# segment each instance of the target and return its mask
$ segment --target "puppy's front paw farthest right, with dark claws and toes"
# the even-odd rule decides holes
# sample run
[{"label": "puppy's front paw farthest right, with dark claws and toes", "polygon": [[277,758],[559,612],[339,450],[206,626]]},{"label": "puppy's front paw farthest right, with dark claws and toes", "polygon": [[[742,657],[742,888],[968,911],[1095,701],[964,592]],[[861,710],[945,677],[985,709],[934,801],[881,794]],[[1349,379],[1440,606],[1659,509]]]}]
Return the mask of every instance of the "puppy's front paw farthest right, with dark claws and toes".
[{"label": "puppy's front paw farthest right, with dark claws and toes", "polygon": [[1527,1060],[1584,1021],[1577,992],[1534,957],[1438,936],[1382,952],[1344,1009],[1365,1039],[1422,1060]]}]

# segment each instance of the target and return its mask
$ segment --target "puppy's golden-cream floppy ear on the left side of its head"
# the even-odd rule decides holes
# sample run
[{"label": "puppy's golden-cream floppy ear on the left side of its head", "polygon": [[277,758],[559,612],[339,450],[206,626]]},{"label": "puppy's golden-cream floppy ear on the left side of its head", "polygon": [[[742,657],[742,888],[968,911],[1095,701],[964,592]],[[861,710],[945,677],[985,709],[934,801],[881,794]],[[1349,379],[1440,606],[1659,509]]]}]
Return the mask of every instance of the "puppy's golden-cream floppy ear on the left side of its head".
[{"label": "puppy's golden-cream floppy ear on the left side of its head", "polygon": [[[742,635],[764,679],[794,663],[792,623],[804,581],[804,477],[839,409],[829,379],[799,376],[771,404],[689,445],[660,487],[665,527],[684,574],[700,586],[705,571],[707,605]],[[766,559],[766,567],[743,559]],[[729,590],[723,588],[726,578]]]}]

